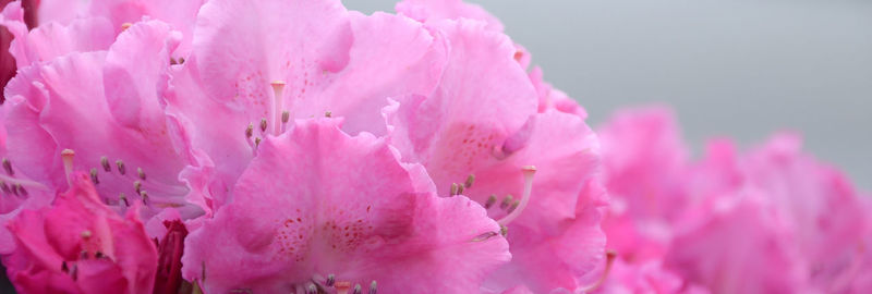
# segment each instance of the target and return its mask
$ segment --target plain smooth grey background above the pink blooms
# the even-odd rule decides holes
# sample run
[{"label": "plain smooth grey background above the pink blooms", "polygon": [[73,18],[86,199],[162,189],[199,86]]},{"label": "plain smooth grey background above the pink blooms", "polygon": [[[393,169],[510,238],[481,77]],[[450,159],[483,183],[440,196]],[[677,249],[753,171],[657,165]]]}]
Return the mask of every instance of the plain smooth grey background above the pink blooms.
[{"label": "plain smooth grey background above the pink blooms", "polygon": [[[349,9],[393,11],[388,0]],[[699,152],[779,130],[872,191],[872,0],[479,0],[589,110],[668,103]]]}]

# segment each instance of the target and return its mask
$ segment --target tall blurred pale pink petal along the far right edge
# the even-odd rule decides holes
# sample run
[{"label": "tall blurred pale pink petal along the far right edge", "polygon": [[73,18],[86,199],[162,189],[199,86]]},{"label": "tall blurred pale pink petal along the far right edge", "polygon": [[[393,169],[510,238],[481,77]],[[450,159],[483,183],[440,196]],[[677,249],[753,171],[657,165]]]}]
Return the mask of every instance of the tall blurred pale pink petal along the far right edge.
[{"label": "tall blurred pale pink petal along the far right edge", "polygon": [[[870,226],[862,195],[839,171],[802,154],[801,140],[779,134],[747,158],[748,180],[766,192],[787,223],[802,258],[814,271],[811,283],[838,292],[856,274]],[[867,266],[867,270],[869,266]]]}]

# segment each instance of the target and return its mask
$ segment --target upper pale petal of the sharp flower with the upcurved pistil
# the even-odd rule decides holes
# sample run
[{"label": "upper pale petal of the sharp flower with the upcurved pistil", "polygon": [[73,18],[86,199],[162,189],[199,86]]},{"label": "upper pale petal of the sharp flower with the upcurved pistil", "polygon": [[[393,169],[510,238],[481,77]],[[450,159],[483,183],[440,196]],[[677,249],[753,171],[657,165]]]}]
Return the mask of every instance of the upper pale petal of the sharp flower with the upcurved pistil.
[{"label": "upper pale petal of the sharp flower with the upcurved pistil", "polygon": [[495,151],[535,113],[536,95],[505,35],[475,22],[445,22],[439,29],[451,51],[438,88],[429,97],[399,98],[388,122],[404,160],[423,162],[439,194],[448,195],[451,183],[496,161]]}]

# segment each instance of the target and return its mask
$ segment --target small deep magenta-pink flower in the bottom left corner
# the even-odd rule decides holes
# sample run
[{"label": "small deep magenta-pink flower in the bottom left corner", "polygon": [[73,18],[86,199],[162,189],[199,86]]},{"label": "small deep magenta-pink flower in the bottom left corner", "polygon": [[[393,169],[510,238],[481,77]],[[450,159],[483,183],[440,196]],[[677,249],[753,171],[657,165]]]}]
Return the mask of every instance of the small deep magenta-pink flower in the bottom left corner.
[{"label": "small deep magenta-pink flower in the bottom left corner", "polygon": [[19,243],[4,257],[10,279],[26,293],[150,293],[157,252],[137,218],[102,204],[87,174],[71,174],[70,191],[50,208],[10,223]]}]

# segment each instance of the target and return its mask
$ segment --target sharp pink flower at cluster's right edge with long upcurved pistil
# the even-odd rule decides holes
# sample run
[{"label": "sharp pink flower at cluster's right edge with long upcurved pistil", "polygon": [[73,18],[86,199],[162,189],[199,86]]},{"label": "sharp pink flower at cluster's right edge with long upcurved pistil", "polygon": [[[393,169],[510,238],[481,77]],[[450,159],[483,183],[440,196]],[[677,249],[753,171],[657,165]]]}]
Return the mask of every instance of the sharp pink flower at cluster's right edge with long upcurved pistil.
[{"label": "sharp pink flower at cluster's right edge with long upcurved pistil", "polygon": [[[604,256],[596,137],[577,115],[537,113],[505,35],[465,20],[432,27],[450,45],[445,72],[432,94],[386,109],[391,144],[404,161],[424,164],[439,195],[468,196],[507,225],[512,261],[486,291],[580,287]],[[535,180],[523,172],[530,166]]]}]

